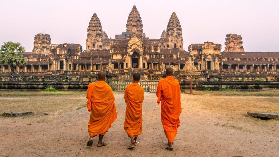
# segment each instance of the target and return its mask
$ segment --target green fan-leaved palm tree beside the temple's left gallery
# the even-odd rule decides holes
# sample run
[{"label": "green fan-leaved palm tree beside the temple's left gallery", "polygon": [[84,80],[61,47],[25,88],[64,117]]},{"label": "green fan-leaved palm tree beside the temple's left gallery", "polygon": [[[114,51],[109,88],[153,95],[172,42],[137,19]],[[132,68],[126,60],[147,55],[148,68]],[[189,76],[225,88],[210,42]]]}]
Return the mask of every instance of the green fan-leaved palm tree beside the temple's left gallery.
[{"label": "green fan-leaved palm tree beside the temple's left gallery", "polygon": [[21,43],[8,41],[1,45],[0,64],[8,64],[11,67],[11,76],[15,74],[16,66],[23,66],[27,63],[26,57],[21,55],[25,48]]}]

